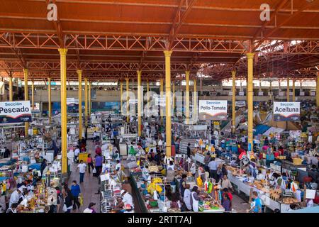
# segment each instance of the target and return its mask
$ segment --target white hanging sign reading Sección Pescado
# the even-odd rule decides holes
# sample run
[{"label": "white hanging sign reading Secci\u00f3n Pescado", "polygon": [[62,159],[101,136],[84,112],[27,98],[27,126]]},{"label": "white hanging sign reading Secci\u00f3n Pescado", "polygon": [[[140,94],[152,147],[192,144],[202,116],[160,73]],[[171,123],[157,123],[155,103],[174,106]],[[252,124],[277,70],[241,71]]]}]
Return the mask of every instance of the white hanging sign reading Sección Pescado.
[{"label": "white hanging sign reading Secci\u00f3n Pescado", "polygon": [[20,123],[32,121],[30,101],[0,102],[0,123]]}]

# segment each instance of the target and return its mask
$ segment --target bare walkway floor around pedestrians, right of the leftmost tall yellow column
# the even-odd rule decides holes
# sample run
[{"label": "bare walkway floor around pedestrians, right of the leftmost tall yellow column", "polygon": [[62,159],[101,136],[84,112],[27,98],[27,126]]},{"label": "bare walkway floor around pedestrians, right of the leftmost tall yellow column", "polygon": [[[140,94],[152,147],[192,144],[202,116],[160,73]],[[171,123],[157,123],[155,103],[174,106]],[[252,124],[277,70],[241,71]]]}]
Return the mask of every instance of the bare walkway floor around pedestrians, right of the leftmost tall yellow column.
[{"label": "bare walkway floor around pedestrians, right of the leftmost tall yellow column", "polygon": [[[91,140],[87,140],[87,148],[89,152],[91,152],[91,157],[94,157],[94,143]],[[73,163],[72,165],[72,173],[69,177],[69,188],[71,188],[72,181],[76,180],[79,184],[79,170],[77,170],[77,164]],[[100,212],[100,194],[96,194],[99,189],[99,181],[97,177],[93,177],[92,169],[91,174],[89,174],[87,168],[86,168],[86,174],[84,175],[84,182],[82,184],[79,184],[81,187],[81,192],[84,199],[83,206],[80,207],[80,209],[72,210],[72,213],[82,213],[84,209],[86,209],[89,206],[89,203],[93,202],[96,204],[94,206],[94,209],[97,213]]]}]

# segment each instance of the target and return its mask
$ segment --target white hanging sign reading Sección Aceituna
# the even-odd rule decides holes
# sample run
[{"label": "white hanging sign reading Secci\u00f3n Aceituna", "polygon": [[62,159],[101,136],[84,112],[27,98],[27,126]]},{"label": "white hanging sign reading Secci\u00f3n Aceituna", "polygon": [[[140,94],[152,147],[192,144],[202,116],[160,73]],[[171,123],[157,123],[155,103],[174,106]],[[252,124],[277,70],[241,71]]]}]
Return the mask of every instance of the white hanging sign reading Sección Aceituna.
[{"label": "white hanging sign reading Secci\u00f3n Aceituna", "polygon": [[274,102],[274,121],[299,121],[300,102]]}]

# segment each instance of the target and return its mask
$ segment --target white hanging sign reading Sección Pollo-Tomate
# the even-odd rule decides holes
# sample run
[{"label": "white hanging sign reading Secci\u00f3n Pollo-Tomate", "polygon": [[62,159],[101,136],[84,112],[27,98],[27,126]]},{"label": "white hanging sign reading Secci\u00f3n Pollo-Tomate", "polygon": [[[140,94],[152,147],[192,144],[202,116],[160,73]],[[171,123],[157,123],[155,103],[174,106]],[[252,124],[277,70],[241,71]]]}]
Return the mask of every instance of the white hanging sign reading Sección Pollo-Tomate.
[{"label": "white hanging sign reading Secci\u00f3n Pollo-Tomate", "polygon": [[199,100],[198,117],[207,120],[227,120],[227,100]]}]

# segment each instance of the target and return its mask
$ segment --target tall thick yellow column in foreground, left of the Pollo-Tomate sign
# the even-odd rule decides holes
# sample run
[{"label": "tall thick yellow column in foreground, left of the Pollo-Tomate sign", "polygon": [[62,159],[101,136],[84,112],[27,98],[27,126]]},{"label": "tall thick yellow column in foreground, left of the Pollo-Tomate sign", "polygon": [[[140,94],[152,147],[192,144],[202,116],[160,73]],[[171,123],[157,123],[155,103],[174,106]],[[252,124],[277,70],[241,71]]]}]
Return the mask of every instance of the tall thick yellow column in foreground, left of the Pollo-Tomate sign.
[{"label": "tall thick yellow column in foreground, left of the Pollo-Tomate sign", "polygon": [[166,155],[172,155],[172,125],[171,125],[171,55],[172,51],[164,51],[165,55],[165,94],[166,94]]}]

